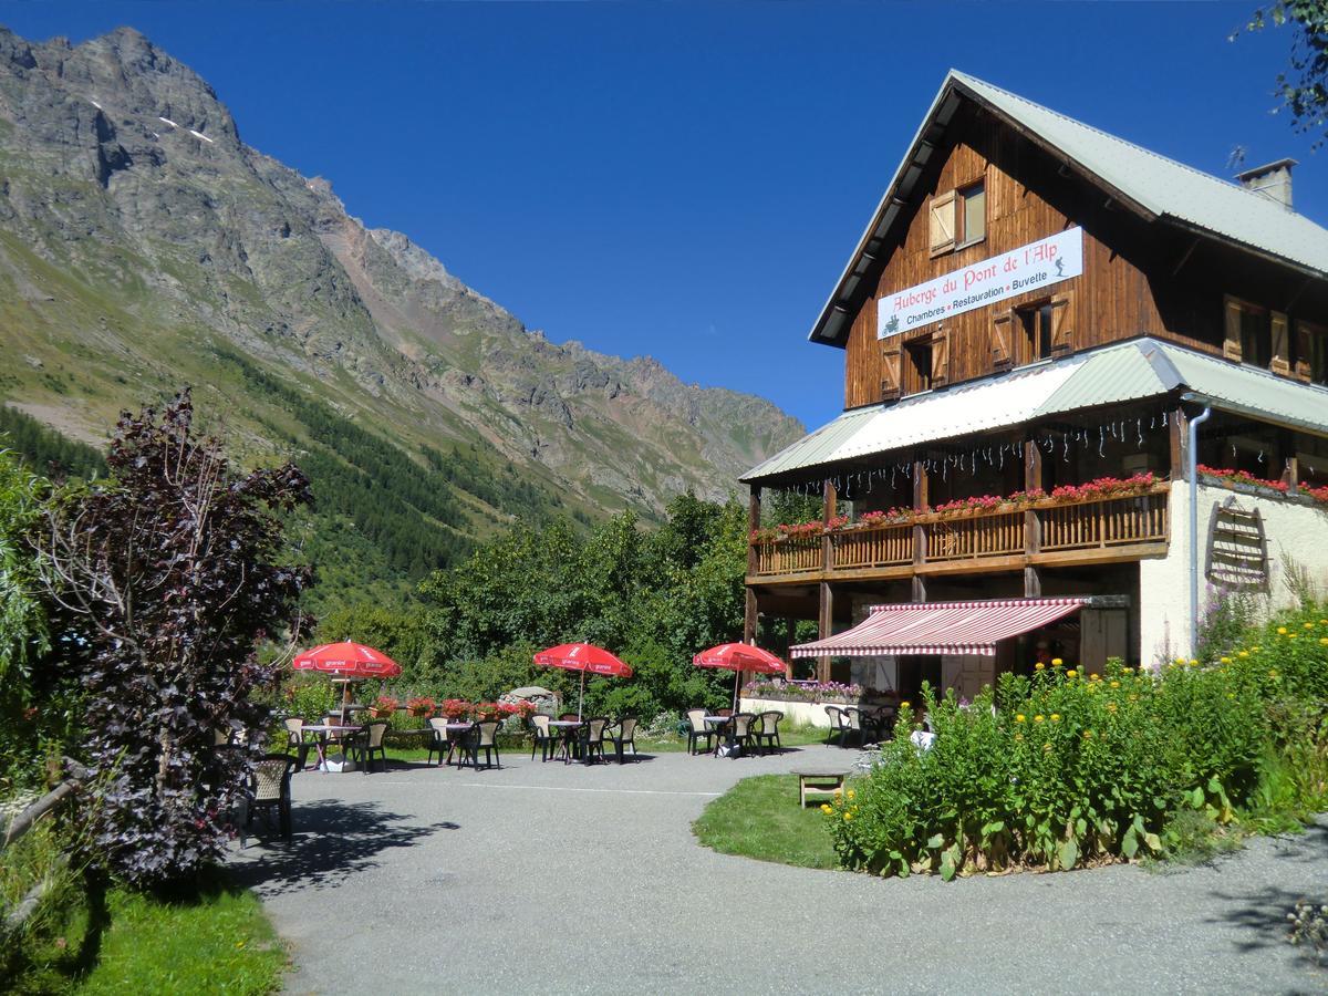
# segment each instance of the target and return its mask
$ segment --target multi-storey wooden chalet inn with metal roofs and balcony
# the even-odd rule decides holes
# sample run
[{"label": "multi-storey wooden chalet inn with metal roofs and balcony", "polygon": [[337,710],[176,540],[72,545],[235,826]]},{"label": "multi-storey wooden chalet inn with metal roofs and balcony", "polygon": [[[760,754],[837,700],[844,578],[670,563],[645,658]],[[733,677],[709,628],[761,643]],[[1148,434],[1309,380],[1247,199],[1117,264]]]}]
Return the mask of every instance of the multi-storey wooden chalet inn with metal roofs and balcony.
[{"label": "multi-storey wooden chalet inn with metal roofs and balcony", "polygon": [[[818,620],[795,657],[903,693],[1187,655],[1191,505],[1204,602],[1321,579],[1328,231],[1293,165],[1227,182],[951,72],[811,329],[843,414],[742,478],[748,639]],[[778,489],[823,521],[762,529]]]}]

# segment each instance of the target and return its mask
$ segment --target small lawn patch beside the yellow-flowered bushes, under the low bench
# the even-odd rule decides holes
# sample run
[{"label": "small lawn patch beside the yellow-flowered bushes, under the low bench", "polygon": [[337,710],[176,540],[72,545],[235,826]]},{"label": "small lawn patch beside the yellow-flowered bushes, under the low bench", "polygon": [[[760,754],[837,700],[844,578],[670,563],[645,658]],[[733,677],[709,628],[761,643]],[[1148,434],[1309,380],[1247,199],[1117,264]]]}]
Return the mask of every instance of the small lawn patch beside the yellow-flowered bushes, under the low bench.
[{"label": "small lawn patch beside the yellow-flowered bushes, under the low bench", "polygon": [[761,774],[744,778],[710,802],[692,833],[721,854],[835,869],[839,862],[817,806],[798,806],[798,776]]}]

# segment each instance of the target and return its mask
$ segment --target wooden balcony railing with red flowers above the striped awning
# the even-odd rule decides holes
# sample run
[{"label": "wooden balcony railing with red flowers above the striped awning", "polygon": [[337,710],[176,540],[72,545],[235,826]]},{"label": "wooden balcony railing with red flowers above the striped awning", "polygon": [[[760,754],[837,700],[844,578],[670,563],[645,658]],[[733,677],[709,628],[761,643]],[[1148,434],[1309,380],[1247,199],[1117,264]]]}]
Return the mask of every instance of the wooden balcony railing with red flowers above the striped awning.
[{"label": "wooden balcony railing with red flowers above the striped awning", "polygon": [[1044,498],[756,538],[748,583],[892,579],[1159,556],[1170,538],[1169,494],[1163,481],[1126,495]]}]

